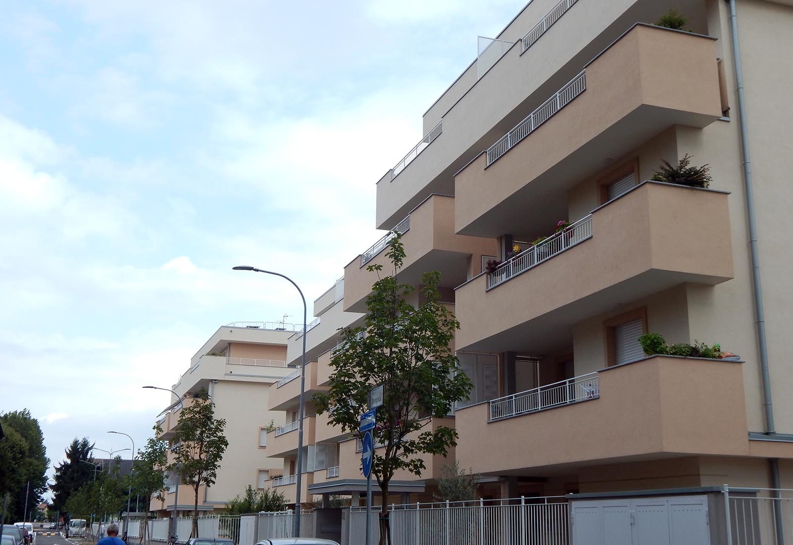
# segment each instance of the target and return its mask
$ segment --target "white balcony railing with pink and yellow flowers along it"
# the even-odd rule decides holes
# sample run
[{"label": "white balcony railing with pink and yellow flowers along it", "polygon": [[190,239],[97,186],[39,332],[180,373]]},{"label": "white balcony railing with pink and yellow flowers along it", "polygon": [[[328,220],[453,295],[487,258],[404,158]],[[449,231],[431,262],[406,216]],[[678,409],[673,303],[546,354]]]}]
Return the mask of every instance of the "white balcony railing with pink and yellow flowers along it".
[{"label": "white balcony railing with pink and yellow flowers along it", "polygon": [[498,284],[506,282],[513,276],[539,265],[542,261],[554,257],[557,253],[564,252],[588,238],[592,238],[592,215],[581,218],[576,223],[571,223],[564,232],[554,234],[504,261],[498,266],[498,269],[488,274],[487,289],[495,288]]}]

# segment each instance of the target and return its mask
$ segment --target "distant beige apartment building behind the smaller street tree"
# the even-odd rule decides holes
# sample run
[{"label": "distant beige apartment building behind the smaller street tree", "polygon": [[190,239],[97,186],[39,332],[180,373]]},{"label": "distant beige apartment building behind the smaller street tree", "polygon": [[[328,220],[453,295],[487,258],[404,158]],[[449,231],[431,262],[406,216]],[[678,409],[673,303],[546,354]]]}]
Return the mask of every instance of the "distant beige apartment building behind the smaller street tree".
[{"label": "distant beige apartment building behind the smaller street tree", "polygon": [[[226,502],[242,495],[248,485],[281,474],[282,461],[270,458],[267,431],[284,423],[283,411],[270,410],[270,385],[294,369],[287,362],[287,343],[302,329],[285,322],[233,322],[218,329],[190,360],[172,390],[171,404],[160,417],[160,438],[174,443],[174,430],[182,407],[205,389],[215,404],[215,416],[226,421],[228,448],[213,486],[201,486],[198,509],[207,514],[224,509]],[[170,456],[170,452],[169,452]],[[171,460],[169,460],[171,461]],[[177,506],[181,516],[193,510],[195,492],[178,485],[175,474],[167,476],[164,501],[152,499],[150,509],[170,516]],[[178,491],[177,491],[178,486]]]}]

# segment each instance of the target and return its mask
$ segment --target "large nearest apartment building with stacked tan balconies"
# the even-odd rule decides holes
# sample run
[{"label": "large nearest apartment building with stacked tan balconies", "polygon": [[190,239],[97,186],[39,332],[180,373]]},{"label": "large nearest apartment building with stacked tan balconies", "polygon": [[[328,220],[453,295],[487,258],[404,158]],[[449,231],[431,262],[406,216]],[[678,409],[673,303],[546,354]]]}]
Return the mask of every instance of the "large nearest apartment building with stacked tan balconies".
[{"label": "large nearest apartment building with stacked tan balconies", "polygon": [[[670,9],[691,32],[650,24]],[[793,488],[791,29],[783,0],[533,0],[431,104],[423,139],[377,181],[377,227],[403,233],[401,280],[442,272],[475,387],[442,422],[457,448],[400,475],[401,499],[424,501],[454,459],[487,498]],[[710,165],[709,189],[649,181],[687,154]],[[331,309],[354,314],[334,323],[360,323],[365,265],[386,263],[388,240],[345,267]],[[308,398],[338,338],[318,329]],[[741,358],[646,357],[642,333]],[[267,409],[287,417],[267,448],[293,498],[288,379],[270,386]],[[356,501],[356,440],[305,408],[302,497]]]}]

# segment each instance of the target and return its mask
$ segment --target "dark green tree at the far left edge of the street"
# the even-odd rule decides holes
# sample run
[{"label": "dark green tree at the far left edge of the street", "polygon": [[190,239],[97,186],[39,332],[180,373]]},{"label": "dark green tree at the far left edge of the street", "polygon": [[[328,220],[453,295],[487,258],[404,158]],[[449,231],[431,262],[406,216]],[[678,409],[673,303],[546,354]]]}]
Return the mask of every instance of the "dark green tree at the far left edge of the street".
[{"label": "dark green tree at the far left edge of the street", "polygon": [[0,476],[0,496],[10,493],[8,513],[13,520],[22,520],[25,513],[33,514],[47,490],[49,459],[44,436],[39,421],[27,409],[2,414],[0,422],[6,432],[6,439],[0,443],[0,467],[13,470]]}]

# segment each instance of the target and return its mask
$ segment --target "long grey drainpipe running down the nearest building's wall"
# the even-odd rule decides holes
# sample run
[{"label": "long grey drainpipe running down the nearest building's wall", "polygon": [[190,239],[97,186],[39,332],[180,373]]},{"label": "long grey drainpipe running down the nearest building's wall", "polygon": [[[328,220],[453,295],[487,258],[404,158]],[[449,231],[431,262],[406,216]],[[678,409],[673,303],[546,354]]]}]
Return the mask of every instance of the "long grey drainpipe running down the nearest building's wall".
[{"label": "long grey drainpipe running down the nearest building's wall", "polygon": [[765,433],[774,435],[774,410],[771,405],[771,379],[768,375],[768,347],[765,344],[765,313],[763,310],[763,290],[760,287],[760,257],[757,252],[757,225],[754,219],[754,196],[752,190],[752,167],[749,158],[749,134],[746,128],[746,107],[744,99],[743,70],[741,69],[741,48],[738,45],[738,25],[735,14],[735,0],[730,3],[730,30],[733,39],[733,59],[735,63],[735,84],[738,94],[738,126],[741,132],[741,154],[743,155],[744,185],[746,191],[746,219],[749,223],[749,253],[752,258],[752,286],[757,323],[757,344],[760,348],[760,372],[763,376],[763,405],[765,408]]}]

